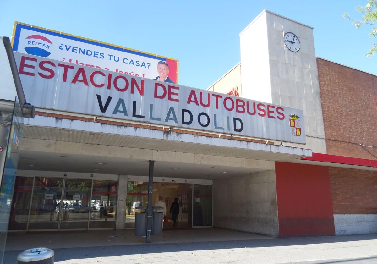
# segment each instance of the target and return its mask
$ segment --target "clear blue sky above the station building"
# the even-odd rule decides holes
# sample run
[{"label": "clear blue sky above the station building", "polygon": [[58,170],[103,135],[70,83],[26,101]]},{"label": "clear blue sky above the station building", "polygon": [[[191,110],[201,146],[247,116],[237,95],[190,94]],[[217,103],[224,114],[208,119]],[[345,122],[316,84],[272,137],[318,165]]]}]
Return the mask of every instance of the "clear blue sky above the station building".
[{"label": "clear blue sky above the station building", "polygon": [[314,27],[316,55],[377,75],[358,1],[14,1],[2,0],[0,35],[14,21],[179,60],[179,83],[206,89],[240,61],[239,33],[264,9]]}]

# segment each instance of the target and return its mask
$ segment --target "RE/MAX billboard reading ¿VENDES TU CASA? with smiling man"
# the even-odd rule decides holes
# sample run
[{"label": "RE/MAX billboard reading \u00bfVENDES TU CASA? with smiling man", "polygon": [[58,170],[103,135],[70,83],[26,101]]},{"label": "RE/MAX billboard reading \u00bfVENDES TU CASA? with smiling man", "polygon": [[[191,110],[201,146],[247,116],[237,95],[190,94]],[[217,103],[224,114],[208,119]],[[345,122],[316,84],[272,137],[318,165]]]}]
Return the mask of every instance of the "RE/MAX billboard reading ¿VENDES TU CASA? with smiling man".
[{"label": "RE/MAX billboard reading \u00bfVENDES TU CASA? with smiling man", "polygon": [[[178,83],[178,60],[15,22],[13,51],[81,66]],[[162,63],[159,63],[159,62]]]}]

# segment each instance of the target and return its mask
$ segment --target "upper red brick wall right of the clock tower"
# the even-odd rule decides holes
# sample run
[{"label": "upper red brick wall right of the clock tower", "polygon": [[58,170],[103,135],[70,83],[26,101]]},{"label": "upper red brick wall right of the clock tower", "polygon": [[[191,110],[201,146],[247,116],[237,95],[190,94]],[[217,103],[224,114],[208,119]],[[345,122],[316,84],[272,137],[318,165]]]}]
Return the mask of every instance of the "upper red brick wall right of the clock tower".
[{"label": "upper red brick wall right of the clock tower", "polygon": [[317,67],[327,154],[377,160],[377,147],[359,145],[377,145],[377,76],[320,58]]}]

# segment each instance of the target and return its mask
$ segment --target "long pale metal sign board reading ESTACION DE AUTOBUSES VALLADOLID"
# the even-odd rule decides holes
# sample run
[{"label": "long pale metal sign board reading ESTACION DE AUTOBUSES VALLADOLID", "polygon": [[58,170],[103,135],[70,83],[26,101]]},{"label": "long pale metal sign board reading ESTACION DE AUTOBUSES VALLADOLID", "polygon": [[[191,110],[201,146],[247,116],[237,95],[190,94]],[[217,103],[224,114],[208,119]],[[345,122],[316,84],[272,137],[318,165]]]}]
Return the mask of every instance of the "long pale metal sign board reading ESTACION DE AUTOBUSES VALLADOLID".
[{"label": "long pale metal sign board reading ESTACION DE AUTOBUSES VALLADOLID", "polygon": [[14,52],[36,107],[305,144],[303,111]]}]

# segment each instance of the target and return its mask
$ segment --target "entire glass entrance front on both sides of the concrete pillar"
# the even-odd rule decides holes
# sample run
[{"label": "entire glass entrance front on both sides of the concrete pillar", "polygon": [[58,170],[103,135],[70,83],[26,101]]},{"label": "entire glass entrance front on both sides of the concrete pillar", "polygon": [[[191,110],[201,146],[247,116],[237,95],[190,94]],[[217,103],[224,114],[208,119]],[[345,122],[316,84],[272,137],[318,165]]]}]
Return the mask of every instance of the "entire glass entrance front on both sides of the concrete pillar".
[{"label": "entire glass entrance front on both sides of the concrete pillar", "polygon": [[[166,205],[164,229],[212,226],[212,186],[153,183],[152,206],[162,196]],[[9,203],[9,230],[115,229],[118,181],[55,177],[16,177]],[[173,227],[170,208],[179,204]],[[125,228],[135,227],[135,214],[148,206],[148,183],[127,182]],[[123,212],[122,212],[123,213]]]}]

